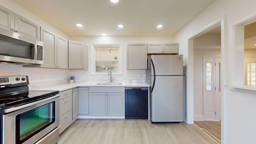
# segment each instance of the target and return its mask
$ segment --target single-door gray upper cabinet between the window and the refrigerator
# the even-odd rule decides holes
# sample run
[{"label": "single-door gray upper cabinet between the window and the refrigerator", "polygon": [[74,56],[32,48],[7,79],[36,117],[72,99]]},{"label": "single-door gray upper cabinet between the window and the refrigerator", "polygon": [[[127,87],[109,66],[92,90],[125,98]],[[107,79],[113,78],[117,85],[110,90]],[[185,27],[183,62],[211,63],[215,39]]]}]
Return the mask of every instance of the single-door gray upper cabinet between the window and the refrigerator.
[{"label": "single-door gray upper cabinet between the window and the refrigerator", "polygon": [[147,44],[128,44],[126,69],[147,69]]}]

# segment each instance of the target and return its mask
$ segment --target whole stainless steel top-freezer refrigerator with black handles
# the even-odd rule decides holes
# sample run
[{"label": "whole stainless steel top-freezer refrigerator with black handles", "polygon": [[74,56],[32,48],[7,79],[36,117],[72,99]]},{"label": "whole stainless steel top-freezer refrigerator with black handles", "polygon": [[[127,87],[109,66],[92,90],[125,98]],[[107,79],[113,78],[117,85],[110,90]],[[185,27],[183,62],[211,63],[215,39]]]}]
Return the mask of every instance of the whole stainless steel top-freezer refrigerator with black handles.
[{"label": "whole stainless steel top-freezer refrigerator with black handles", "polygon": [[183,122],[183,56],[151,56],[151,121]]}]

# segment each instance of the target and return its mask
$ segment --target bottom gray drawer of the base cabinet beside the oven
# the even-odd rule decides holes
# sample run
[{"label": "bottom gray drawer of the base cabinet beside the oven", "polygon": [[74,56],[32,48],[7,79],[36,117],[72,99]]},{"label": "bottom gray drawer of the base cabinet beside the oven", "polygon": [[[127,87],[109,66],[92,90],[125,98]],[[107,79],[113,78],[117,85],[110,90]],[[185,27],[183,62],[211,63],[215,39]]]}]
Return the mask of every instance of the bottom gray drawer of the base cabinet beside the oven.
[{"label": "bottom gray drawer of the base cabinet beside the oven", "polygon": [[60,117],[60,134],[72,123],[72,110]]}]

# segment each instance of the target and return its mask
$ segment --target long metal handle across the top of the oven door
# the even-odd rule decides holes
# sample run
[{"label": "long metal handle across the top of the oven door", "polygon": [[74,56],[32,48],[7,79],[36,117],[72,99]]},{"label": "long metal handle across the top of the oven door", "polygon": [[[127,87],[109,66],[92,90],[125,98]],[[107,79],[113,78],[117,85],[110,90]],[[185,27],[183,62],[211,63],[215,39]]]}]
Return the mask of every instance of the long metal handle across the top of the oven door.
[{"label": "long metal handle across the top of the oven door", "polygon": [[29,106],[33,106],[33,105],[39,104],[39,103],[41,103],[41,102],[45,102],[45,101],[47,101],[47,100],[51,100],[51,99],[53,99],[53,98],[57,98],[57,97],[59,97],[59,96],[60,96],[60,94],[56,94],[55,96],[51,96],[51,97],[49,97],[49,98],[45,98],[45,99],[42,99],[42,100],[38,100],[38,101],[36,101],[36,102],[32,102],[32,103],[29,103],[29,104],[24,104],[24,105],[22,105],[22,106],[17,106],[17,107],[13,107],[13,108],[8,108],[8,109],[4,110],[4,113],[14,112],[14,111],[20,110],[20,109],[22,109],[22,108],[27,108],[27,107],[29,107]]}]

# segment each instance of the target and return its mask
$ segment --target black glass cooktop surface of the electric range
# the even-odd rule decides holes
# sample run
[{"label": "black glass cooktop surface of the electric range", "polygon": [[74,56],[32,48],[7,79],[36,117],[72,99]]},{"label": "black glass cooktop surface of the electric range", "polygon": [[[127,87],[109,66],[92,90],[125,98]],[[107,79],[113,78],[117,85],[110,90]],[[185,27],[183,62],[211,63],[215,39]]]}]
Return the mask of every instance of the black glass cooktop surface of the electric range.
[{"label": "black glass cooktop surface of the electric range", "polygon": [[40,100],[58,93],[59,91],[29,90],[8,95],[2,95],[0,96],[0,108],[7,108],[24,104],[26,102]]}]

